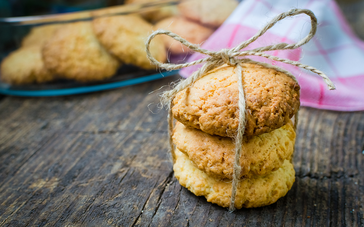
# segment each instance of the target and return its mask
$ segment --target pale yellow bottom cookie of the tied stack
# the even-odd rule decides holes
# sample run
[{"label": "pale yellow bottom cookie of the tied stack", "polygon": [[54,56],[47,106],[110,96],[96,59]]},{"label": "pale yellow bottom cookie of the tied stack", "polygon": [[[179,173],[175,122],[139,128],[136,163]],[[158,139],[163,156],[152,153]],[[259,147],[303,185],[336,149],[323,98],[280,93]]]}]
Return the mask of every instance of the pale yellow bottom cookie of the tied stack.
[{"label": "pale yellow bottom cookie of the tied stack", "polygon": [[[179,183],[195,195],[203,195],[207,202],[229,207],[231,180],[216,180],[194,167],[190,159],[179,150],[175,150],[176,162],[174,175]],[[285,160],[277,171],[263,176],[241,179],[238,183],[235,208],[261,207],[276,202],[285,196],[294,183],[292,163]]]}]

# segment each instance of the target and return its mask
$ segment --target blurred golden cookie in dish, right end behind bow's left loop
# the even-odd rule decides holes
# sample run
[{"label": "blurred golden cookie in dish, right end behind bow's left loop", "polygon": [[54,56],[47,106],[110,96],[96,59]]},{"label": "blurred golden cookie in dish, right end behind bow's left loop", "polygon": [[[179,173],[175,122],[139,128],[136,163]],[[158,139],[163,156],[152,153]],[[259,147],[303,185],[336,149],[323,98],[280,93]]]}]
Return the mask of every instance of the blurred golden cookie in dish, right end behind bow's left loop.
[{"label": "blurred golden cookie in dish, right end behind bow's left loop", "polygon": [[[147,58],[145,40],[152,25],[138,15],[100,17],[92,21],[94,31],[102,45],[126,64],[144,69],[155,69]],[[166,50],[160,37],[151,41],[150,52],[158,61],[166,61]]]}]

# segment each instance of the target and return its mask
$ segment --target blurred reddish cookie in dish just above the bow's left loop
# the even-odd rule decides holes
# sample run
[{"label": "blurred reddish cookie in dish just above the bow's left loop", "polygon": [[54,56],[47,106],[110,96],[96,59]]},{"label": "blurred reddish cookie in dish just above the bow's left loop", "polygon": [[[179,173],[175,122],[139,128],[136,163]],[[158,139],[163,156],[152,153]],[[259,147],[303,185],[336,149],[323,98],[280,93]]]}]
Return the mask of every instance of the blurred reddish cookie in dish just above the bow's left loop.
[{"label": "blurred reddish cookie in dish just above the bow's left loop", "polygon": [[[211,28],[203,27],[200,24],[177,16],[169,17],[159,21],[157,24],[155,24],[155,28],[170,30],[171,32],[176,33],[193,44],[201,44],[214,32],[214,30]],[[165,40],[165,46],[169,52],[173,54],[187,52],[188,48],[181,45],[180,42],[166,35],[162,35],[162,37]]]}]

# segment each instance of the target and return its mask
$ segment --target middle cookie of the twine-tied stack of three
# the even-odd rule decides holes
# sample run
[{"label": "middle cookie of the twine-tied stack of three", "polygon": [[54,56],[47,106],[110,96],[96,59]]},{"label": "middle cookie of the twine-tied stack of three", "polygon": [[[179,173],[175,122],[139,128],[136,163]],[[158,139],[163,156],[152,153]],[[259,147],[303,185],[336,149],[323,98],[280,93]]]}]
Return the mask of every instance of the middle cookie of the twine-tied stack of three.
[{"label": "middle cookie of the twine-tied stack of three", "polygon": [[[233,178],[235,144],[230,137],[210,135],[180,122],[173,130],[173,142],[188,155],[193,165],[213,178]],[[293,154],[296,133],[292,122],[279,129],[254,137],[243,137],[241,174],[265,175],[281,167]]]}]

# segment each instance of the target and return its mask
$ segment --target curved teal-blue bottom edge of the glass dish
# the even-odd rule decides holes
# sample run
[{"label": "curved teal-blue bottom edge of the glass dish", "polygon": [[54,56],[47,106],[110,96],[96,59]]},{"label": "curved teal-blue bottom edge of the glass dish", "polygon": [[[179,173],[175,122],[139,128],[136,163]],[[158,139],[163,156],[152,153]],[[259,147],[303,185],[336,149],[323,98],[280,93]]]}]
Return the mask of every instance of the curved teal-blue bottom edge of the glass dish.
[{"label": "curved teal-blue bottom edge of the glass dish", "polygon": [[158,80],[163,77],[173,76],[177,73],[178,70],[173,70],[170,72],[161,72],[148,76],[132,78],[129,80],[111,82],[108,84],[97,84],[97,85],[82,86],[76,88],[62,88],[62,89],[50,89],[50,90],[12,90],[9,88],[0,87],[0,94],[10,95],[10,96],[24,96],[24,97],[68,96],[73,94],[99,92],[103,90],[121,88],[129,85],[141,84],[148,81]]}]

